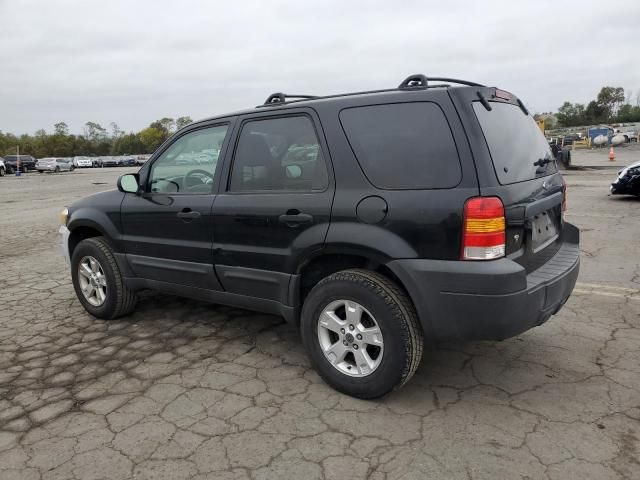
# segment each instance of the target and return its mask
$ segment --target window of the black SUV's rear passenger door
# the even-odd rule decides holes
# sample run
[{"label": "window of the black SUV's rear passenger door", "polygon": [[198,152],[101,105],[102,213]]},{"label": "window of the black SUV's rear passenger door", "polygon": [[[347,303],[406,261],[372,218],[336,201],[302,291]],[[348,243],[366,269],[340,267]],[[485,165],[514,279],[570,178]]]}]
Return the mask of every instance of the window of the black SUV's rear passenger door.
[{"label": "window of the black SUV's rear passenger door", "polygon": [[244,124],[233,159],[229,190],[314,191],[328,185],[315,128],[305,115]]}]

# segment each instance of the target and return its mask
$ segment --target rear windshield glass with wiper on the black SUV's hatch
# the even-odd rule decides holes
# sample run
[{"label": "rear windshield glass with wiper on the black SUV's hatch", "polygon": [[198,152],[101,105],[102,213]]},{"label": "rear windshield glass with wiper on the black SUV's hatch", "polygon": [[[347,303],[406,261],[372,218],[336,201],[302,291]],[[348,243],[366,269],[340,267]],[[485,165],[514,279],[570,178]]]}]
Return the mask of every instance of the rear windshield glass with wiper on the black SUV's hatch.
[{"label": "rear windshield glass with wiper on the black SUV's hatch", "polygon": [[488,111],[481,103],[473,103],[501,184],[533,180],[558,171],[549,144],[531,115],[510,103],[491,102],[491,107]]}]

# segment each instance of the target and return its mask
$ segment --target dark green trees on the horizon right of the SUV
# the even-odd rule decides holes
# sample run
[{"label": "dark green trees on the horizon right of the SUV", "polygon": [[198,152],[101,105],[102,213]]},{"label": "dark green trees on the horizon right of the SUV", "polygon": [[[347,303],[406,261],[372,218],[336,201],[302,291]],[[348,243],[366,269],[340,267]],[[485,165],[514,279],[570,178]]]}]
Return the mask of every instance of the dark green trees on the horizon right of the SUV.
[{"label": "dark green trees on the horizon right of the SUV", "polygon": [[564,102],[554,115],[559,127],[640,122],[640,92],[632,105],[631,91],[625,95],[622,87],[602,87],[589,103]]}]

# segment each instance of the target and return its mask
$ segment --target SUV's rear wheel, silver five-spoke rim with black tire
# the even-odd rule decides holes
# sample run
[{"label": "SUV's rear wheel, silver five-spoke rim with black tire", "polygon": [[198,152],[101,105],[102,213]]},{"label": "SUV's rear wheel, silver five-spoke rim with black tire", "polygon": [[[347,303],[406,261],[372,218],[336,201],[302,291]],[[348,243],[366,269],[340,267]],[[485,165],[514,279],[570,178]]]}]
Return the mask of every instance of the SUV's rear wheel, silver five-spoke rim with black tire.
[{"label": "SUV's rear wheel, silver five-spoke rim with black tire", "polygon": [[422,358],[422,330],[411,300],[393,281],[368,270],[344,270],[320,281],[304,302],[301,334],[320,376],[358,398],[399,388]]}]

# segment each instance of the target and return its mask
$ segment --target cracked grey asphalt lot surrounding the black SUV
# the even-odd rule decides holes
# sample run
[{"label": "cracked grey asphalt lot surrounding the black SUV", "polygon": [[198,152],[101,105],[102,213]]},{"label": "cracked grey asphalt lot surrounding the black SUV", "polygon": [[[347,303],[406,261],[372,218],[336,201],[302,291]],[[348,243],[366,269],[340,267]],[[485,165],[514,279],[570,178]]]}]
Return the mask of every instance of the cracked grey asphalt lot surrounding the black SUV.
[{"label": "cracked grey asphalt lot surrounding the black SUV", "polygon": [[0,478],[638,479],[640,200],[570,171],[574,295],[504,342],[439,345],[378,401],[336,393],[273,316],[144,295],[90,317],[57,213],[127,169],[0,179]]}]

